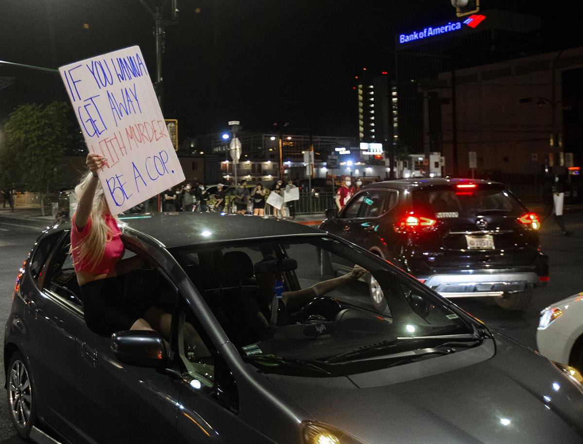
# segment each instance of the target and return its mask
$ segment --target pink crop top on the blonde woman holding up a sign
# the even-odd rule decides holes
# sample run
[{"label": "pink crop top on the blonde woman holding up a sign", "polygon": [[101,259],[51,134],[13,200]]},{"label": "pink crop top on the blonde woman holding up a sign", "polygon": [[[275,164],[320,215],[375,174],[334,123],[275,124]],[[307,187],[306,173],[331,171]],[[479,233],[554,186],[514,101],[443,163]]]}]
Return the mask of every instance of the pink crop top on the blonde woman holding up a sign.
[{"label": "pink crop top on the blonde woman holding up a sign", "polygon": [[71,218],[71,246],[73,249],[73,267],[75,267],[75,272],[89,272],[95,274],[107,274],[111,272],[119,260],[124,256],[124,242],[121,241],[121,231],[117,226],[117,220],[111,215],[104,215],[107,226],[113,231],[113,237],[111,240],[106,242],[106,248],[103,252],[103,258],[100,262],[91,267],[87,260],[82,260],[78,263],[79,250],[75,250],[75,247],[80,244],[83,238],[89,233],[89,228],[91,227],[91,218],[87,219],[87,224],[83,227],[82,231],[77,229],[75,224],[75,214]]}]

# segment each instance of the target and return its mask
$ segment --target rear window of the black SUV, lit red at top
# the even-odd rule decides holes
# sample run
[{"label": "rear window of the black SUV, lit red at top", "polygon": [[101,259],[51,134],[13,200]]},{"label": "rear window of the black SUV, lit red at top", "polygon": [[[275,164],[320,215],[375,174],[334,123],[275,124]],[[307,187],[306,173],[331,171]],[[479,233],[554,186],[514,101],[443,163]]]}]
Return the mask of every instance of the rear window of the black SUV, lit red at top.
[{"label": "rear window of the black SUV, lit red at top", "polygon": [[488,214],[521,214],[521,203],[502,188],[456,188],[454,186],[413,191],[416,211],[433,213],[438,219],[476,217]]}]

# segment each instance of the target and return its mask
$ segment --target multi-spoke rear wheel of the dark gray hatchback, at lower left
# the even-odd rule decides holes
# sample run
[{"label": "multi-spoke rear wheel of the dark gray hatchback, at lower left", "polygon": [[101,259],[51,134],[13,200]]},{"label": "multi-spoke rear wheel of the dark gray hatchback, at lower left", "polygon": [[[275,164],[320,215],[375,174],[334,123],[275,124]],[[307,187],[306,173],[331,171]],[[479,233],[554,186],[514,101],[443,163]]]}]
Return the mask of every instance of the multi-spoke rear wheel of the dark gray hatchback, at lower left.
[{"label": "multi-spoke rear wheel of the dark gray hatchback, at lower left", "polygon": [[19,352],[10,358],[6,379],[10,420],[20,438],[28,439],[30,429],[37,421],[36,404],[30,367]]}]

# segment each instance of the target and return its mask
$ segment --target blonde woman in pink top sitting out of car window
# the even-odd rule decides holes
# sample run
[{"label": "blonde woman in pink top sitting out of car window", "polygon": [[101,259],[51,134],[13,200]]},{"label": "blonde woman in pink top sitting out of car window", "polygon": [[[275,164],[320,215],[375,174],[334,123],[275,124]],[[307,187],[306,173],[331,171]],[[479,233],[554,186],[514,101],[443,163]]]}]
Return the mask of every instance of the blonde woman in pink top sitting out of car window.
[{"label": "blonde woman in pink top sitting out of car window", "polygon": [[[147,284],[155,273],[140,270],[145,262],[139,256],[121,259],[124,244],[118,219],[111,215],[97,178],[104,163],[99,154],[87,154],[89,172],[75,188],[78,206],[71,219],[71,254],[85,322],[103,336],[121,330],[155,330],[168,340],[171,315],[154,305],[156,286]],[[130,272],[141,274],[138,279],[132,276],[132,284],[126,285]],[[185,332],[192,346],[204,347],[191,325]]]}]

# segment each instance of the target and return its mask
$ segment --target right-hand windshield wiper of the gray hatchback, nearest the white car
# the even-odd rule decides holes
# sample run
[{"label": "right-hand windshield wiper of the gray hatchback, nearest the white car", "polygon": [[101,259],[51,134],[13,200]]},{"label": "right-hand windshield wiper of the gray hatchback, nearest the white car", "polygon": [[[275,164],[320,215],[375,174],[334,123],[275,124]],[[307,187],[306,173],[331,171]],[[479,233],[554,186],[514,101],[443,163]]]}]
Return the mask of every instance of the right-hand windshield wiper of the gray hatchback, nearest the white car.
[{"label": "right-hand windshield wiper of the gray hatchback, nearest the white car", "polygon": [[[366,358],[370,357],[370,355],[378,354],[387,348],[394,348],[396,346],[402,346],[407,342],[414,343],[415,346],[419,346],[424,342],[430,341],[432,344],[437,341],[435,346],[445,346],[457,343],[465,343],[465,342],[482,342],[482,337],[475,336],[474,334],[438,334],[435,336],[405,336],[405,337],[397,337],[395,339],[390,339],[386,341],[381,341],[379,343],[370,344],[368,346],[357,348],[356,350],[351,350],[347,353],[342,353],[339,355],[332,356],[325,360],[324,362],[328,364],[333,364],[335,362],[342,362],[351,360],[352,358]],[[440,343],[440,341],[443,341]],[[468,347],[470,347],[468,345]],[[404,353],[411,353],[412,350],[409,350]],[[440,351],[441,353],[441,351]]]}]

